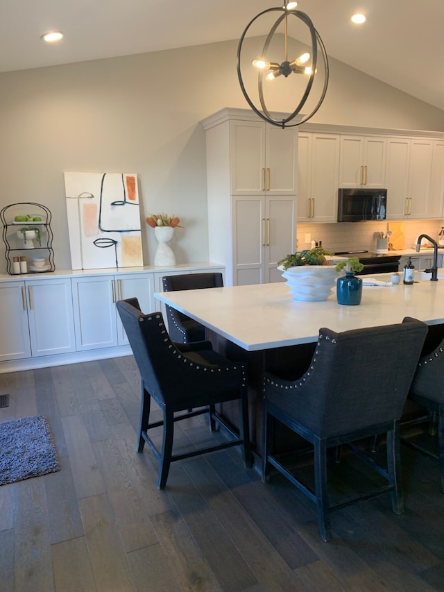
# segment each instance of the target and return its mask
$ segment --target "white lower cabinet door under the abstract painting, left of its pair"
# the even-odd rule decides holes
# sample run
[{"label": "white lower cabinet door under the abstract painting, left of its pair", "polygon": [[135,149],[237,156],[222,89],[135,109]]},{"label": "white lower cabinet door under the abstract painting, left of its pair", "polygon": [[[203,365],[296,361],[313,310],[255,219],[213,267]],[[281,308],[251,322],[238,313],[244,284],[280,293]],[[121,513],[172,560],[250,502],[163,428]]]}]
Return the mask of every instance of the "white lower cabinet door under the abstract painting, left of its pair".
[{"label": "white lower cabinet door under the abstract painting, left of its pair", "polygon": [[117,346],[113,276],[73,278],[71,282],[77,350]]}]

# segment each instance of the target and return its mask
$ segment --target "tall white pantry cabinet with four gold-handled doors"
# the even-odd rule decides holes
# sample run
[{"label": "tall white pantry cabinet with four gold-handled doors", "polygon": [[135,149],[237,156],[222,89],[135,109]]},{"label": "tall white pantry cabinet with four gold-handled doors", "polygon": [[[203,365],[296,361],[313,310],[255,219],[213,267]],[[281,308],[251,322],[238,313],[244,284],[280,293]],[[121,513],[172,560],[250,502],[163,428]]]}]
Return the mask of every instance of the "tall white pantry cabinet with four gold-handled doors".
[{"label": "tall white pantry cabinet with four gold-handled doors", "polygon": [[244,109],[202,123],[210,260],[225,265],[228,286],[282,281],[278,261],[296,248],[296,128]]}]

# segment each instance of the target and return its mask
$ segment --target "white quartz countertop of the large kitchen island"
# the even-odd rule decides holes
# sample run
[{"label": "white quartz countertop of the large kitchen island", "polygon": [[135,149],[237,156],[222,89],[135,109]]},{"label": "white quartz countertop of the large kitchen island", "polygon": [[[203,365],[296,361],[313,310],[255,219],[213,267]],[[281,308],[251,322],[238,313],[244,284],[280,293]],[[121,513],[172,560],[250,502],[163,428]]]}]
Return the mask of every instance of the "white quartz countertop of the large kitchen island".
[{"label": "white quartz countertop of the large kitchen island", "polygon": [[[284,282],[162,292],[155,297],[254,351],[316,341],[321,327],[341,332],[400,323],[404,316],[429,325],[444,323],[444,269],[438,272],[438,282],[425,276],[413,285],[364,286],[357,306],[339,305],[333,293],[327,301],[296,301]],[[390,274],[377,276],[390,279]]]}]

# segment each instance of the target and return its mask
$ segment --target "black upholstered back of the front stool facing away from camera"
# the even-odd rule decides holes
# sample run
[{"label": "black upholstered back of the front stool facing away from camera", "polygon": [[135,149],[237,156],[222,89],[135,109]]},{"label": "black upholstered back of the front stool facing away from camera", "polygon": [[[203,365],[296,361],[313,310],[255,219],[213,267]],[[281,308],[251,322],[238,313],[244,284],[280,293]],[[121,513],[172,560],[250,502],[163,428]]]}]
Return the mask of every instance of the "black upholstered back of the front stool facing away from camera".
[{"label": "black upholstered back of the front stool facing away from camera", "polygon": [[323,438],[400,418],[426,333],[413,319],[341,333],[321,328],[309,369],[289,383],[294,411],[302,404],[307,427]]}]

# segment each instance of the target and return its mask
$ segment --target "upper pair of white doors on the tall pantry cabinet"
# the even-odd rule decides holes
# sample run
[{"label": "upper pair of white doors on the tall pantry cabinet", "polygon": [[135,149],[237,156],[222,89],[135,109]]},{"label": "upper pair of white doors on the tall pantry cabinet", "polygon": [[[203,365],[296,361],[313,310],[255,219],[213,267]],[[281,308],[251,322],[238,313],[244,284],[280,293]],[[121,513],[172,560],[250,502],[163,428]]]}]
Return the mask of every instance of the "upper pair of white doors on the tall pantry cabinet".
[{"label": "upper pair of white doors on the tall pantry cabinet", "polygon": [[297,133],[264,121],[230,121],[232,195],[296,193]]}]

